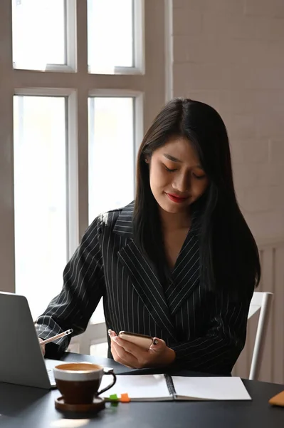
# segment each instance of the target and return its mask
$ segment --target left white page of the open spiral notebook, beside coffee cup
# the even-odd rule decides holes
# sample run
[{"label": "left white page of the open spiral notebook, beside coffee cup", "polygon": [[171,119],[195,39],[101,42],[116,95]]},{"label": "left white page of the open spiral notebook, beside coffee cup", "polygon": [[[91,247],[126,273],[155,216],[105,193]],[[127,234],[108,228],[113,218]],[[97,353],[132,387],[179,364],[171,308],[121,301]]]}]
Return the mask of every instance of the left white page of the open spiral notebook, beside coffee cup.
[{"label": "left white page of the open spiral notebook, beside coffee cup", "polygon": [[[111,381],[111,375],[103,376],[100,389],[105,388]],[[101,394],[101,397],[108,398],[111,394],[117,394],[118,398],[121,394],[128,394],[130,399],[143,401],[171,397],[164,374],[118,375],[115,385]]]}]

